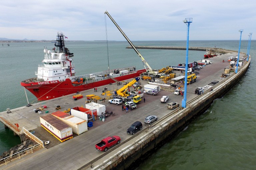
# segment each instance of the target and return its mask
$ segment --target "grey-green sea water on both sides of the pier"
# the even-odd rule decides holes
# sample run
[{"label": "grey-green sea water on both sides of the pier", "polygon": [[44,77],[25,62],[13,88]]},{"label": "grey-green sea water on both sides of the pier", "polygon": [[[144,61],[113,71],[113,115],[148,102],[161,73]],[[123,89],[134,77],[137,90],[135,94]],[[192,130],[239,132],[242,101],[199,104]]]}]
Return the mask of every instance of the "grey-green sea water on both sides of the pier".
[{"label": "grey-green sea water on both sides of the pier", "polygon": [[[7,46],[10,44],[10,46]],[[186,41],[135,41],[135,46],[185,47]],[[241,42],[247,52],[248,41]],[[126,41],[66,42],[74,53],[76,75],[143,64]],[[190,47],[223,48],[238,51],[239,41],[190,41]],[[0,46],[0,111],[28,104],[20,82],[35,76],[44,59],[44,47],[53,43],[3,43]],[[138,49],[153,69],[185,63],[185,50]],[[189,51],[189,62],[203,59],[204,51]],[[255,155],[255,74],[256,42],[251,41],[250,69],[223,98],[194,120],[175,139],[164,145],[137,169],[254,169]],[[235,56],[234,56],[235,57]],[[242,56],[240,56],[242,57]],[[37,99],[26,90],[29,103]],[[1,115],[0,115],[1,116]],[[19,137],[0,123],[0,154],[19,144]]]}]

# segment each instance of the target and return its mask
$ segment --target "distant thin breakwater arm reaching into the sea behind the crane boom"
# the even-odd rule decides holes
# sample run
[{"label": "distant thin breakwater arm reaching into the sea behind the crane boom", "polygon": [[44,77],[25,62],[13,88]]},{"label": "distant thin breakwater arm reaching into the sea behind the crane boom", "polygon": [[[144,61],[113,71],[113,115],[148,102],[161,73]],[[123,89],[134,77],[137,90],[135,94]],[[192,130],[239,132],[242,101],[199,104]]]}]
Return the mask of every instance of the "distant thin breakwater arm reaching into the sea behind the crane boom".
[{"label": "distant thin breakwater arm reaching into the sea behind the crane boom", "polygon": [[[132,49],[132,46],[126,47],[127,49]],[[186,50],[186,47],[158,47],[158,46],[135,46],[136,49],[153,49],[153,50]],[[206,51],[210,50],[214,53],[222,53],[226,54],[230,52],[230,50],[222,49],[222,48],[210,48],[210,47],[189,47],[188,50],[196,50],[196,51]]]}]

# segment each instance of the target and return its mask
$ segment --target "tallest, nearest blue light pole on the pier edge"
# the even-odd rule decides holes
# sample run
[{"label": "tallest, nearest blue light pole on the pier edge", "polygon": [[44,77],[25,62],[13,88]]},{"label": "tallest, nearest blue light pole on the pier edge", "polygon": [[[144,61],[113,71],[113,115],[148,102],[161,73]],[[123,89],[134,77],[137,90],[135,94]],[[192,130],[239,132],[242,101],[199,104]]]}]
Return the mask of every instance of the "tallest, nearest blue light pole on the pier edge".
[{"label": "tallest, nearest blue light pole on the pier edge", "polygon": [[186,108],[186,101],[187,101],[187,79],[188,79],[188,38],[189,38],[189,25],[192,23],[192,18],[185,18],[183,21],[188,26],[187,31],[187,47],[186,47],[186,67],[185,67],[185,80],[184,80],[184,99],[182,99],[182,107]]}]

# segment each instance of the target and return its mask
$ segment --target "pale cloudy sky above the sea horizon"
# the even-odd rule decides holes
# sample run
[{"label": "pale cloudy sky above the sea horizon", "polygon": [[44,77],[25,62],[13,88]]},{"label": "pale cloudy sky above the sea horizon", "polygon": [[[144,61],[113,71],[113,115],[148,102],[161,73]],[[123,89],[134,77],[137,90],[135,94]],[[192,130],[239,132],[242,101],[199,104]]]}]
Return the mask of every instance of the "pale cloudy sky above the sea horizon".
[{"label": "pale cloudy sky above the sea horizon", "polygon": [[239,30],[248,40],[255,9],[253,0],[11,0],[0,3],[0,37],[126,41],[108,11],[131,41],[187,40],[185,18],[193,18],[189,40],[239,40]]}]

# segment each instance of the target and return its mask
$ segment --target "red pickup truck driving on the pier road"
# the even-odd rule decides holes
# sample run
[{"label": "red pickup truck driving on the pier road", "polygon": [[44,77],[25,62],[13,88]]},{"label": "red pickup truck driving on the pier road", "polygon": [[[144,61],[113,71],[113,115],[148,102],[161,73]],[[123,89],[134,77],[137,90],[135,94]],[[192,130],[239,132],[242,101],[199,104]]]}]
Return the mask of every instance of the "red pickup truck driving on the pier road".
[{"label": "red pickup truck driving on the pier road", "polygon": [[107,151],[108,148],[115,144],[119,144],[121,141],[121,138],[119,136],[108,136],[101,140],[100,143],[97,143],[95,145],[95,148],[99,151]]}]

